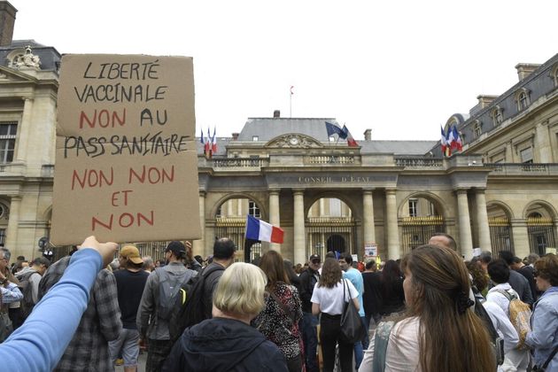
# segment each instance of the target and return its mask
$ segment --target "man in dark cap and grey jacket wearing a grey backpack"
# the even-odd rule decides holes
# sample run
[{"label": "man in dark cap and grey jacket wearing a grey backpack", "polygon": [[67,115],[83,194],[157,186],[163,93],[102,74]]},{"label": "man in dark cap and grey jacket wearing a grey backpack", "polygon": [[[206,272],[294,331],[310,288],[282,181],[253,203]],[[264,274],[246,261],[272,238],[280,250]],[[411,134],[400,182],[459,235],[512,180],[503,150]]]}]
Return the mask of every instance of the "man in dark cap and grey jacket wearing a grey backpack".
[{"label": "man in dark cap and grey jacket wearing a grey backpack", "polygon": [[[136,324],[139,331],[140,346],[147,344],[147,372],[160,371],[163,362],[173,347],[169,333],[169,317],[162,314],[161,297],[159,292],[180,287],[190,277],[198,274],[190,268],[184,267],[182,260],[186,257],[186,247],[181,242],[171,242],[165,249],[167,265],[157,267],[149,277],[143,289],[142,299],[137,311]],[[163,298],[164,299],[164,298]],[[168,300],[168,299],[167,299]]]}]

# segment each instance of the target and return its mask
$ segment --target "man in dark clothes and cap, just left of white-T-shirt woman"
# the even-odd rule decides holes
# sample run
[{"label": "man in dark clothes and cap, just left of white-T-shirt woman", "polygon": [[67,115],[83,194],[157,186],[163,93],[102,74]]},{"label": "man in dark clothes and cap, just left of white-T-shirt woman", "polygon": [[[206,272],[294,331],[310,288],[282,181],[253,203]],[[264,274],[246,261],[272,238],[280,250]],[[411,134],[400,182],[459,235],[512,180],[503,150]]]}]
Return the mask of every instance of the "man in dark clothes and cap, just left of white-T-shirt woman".
[{"label": "man in dark clothes and cap, just left of white-T-shirt woman", "polygon": [[320,280],[320,266],[322,260],[317,254],[310,256],[308,268],[300,274],[300,299],[302,300],[302,340],[304,342],[304,354],[306,358],[306,371],[319,371],[316,360],[316,349],[318,347],[318,317],[312,314],[312,293],[314,286]]}]

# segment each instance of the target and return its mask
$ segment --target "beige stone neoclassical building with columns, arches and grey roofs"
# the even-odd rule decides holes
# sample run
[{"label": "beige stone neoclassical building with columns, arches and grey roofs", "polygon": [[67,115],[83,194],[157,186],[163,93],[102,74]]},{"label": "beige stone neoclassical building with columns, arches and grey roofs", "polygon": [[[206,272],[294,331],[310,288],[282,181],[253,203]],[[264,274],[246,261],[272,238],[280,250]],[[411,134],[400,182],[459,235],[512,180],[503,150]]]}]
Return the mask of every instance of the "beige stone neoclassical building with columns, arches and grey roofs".
[{"label": "beige stone neoclassical building with columns, arches and grey roofs", "polygon": [[[35,41],[12,41],[15,9],[0,2],[0,244],[33,258],[48,238],[52,210],[60,56]],[[9,20],[12,17],[12,22]],[[334,118],[252,118],[217,139],[211,158],[198,145],[203,239],[196,254],[229,236],[252,260],[273,248],[294,263],[312,253],[351,252],[376,244],[397,259],[430,235],[454,236],[474,248],[524,257],[558,245],[558,54],[542,65],[515,66],[518,81],[500,96],[478,96],[456,113],[463,150],[444,158],[432,141],[377,141],[372,130],[357,147],[329,138]],[[437,123],[432,126],[438,127]],[[244,252],[252,214],[280,226],[284,243]],[[158,256],[163,242],[142,244]],[[59,247],[58,256],[66,252]]]}]

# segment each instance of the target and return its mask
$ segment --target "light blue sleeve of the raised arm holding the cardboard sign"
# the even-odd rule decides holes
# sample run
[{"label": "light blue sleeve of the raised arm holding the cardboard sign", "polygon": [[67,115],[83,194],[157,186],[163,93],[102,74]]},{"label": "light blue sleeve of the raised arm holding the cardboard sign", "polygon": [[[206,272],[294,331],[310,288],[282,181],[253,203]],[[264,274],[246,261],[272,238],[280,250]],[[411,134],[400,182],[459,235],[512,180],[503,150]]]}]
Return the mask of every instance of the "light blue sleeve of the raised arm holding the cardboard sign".
[{"label": "light blue sleeve of the raised arm holding the cardboard sign", "polygon": [[[101,255],[75,252],[60,281],[39,301],[26,322],[0,344],[2,370],[50,371],[74,336],[87,308],[89,291],[102,268]],[[60,316],[64,322],[58,322]]]}]

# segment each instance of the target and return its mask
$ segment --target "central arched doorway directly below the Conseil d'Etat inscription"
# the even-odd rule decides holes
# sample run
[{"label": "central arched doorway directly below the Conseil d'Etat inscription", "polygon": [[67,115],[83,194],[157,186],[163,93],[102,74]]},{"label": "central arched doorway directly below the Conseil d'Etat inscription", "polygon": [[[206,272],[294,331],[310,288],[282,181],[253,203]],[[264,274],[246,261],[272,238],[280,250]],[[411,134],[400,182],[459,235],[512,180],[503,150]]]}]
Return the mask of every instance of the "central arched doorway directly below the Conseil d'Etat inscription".
[{"label": "central arched doorway directly below the Conseil d'Etat inscription", "polygon": [[328,251],[354,252],[356,223],[353,211],[339,198],[319,198],[306,216],[306,257]]}]

